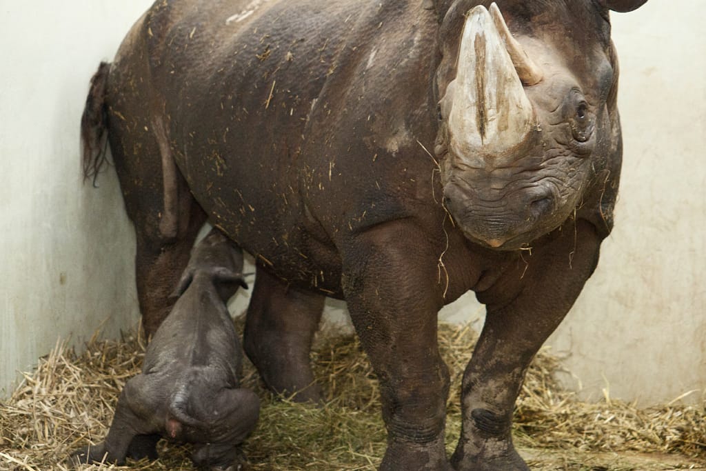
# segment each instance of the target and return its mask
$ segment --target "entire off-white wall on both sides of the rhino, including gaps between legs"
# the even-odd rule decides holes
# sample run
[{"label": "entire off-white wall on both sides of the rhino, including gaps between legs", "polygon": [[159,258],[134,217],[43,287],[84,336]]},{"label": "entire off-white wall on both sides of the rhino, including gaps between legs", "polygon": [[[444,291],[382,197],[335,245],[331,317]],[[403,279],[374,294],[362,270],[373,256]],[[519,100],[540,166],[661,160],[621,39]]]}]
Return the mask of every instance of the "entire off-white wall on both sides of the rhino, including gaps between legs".
[{"label": "entire off-white wall on both sides of the rhino, including gaps between legs", "polygon": [[[0,0],[0,388],[57,336],[83,340],[137,316],[133,234],[114,172],[80,179],[88,78],[150,0]],[[550,339],[583,394],[640,404],[706,389],[706,35],[700,0],[614,14],[625,163],[616,229],[594,277]],[[12,64],[12,65],[11,65]],[[64,274],[62,276],[62,273]],[[63,284],[61,280],[64,280]],[[246,297],[234,302],[244,309]],[[344,323],[341,303],[328,318]],[[472,294],[440,317],[475,320]]]}]

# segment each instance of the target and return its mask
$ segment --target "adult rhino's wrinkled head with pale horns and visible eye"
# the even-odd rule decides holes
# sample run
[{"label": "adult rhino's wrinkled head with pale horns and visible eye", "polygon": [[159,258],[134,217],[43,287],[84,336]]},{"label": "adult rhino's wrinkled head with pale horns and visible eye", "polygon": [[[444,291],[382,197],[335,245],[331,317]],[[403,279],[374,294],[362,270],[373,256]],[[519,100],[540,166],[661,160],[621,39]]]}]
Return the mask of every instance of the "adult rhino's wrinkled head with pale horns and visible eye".
[{"label": "adult rhino's wrinkled head with pale horns and visible eye", "polygon": [[443,12],[435,151],[457,225],[513,250],[566,221],[606,162],[619,169],[608,9],[645,0],[479,3]]}]

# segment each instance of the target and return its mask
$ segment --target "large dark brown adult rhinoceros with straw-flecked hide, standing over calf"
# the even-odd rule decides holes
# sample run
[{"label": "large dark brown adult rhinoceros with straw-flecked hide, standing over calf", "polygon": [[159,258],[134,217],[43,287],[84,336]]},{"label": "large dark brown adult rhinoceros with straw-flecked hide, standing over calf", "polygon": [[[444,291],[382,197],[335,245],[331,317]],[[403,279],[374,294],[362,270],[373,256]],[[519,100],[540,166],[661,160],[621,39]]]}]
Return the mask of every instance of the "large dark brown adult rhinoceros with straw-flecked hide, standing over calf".
[{"label": "large dark brown adult rhinoceros with straw-flecked hide, standing over calf", "polygon": [[[381,383],[381,469],[527,470],[515,398],[612,225],[609,10],[643,3],[155,2],[82,124],[88,177],[109,133],[145,329],[208,219],[256,258],[244,345],[270,388],[319,397],[311,338],[345,299]],[[449,463],[436,315],[468,290],[487,315]]]}]

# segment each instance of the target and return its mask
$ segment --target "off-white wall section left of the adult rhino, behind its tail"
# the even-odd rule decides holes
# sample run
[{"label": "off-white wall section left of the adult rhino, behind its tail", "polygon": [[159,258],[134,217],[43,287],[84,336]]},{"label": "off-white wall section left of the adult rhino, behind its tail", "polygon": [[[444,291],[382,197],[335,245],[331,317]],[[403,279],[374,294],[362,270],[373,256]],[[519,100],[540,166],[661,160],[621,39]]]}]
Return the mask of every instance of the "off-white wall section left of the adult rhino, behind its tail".
[{"label": "off-white wall section left of the adult rhino, behind its tail", "polygon": [[83,185],[78,127],[90,76],[147,5],[0,1],[0,397],[58,337],[136,321],[132,228],[114,171]]}]

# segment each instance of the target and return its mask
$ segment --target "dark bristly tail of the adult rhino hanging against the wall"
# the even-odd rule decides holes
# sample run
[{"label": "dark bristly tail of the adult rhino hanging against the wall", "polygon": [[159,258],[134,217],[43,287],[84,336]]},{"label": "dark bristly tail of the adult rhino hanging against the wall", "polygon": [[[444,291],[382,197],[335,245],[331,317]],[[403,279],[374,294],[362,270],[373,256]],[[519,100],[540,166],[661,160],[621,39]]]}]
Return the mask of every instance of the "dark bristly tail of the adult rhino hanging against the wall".
[{"label": "dark bristly tail of the adult rhino hanging against the wall", "polygon": [[93,186],[101,167],[107,163],[108,114],[105,103],[110,64],[101,62],[90,79],[90,91],[81,116],[81,151],[83,181],[92,179]]}]

